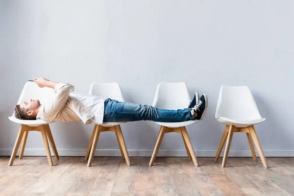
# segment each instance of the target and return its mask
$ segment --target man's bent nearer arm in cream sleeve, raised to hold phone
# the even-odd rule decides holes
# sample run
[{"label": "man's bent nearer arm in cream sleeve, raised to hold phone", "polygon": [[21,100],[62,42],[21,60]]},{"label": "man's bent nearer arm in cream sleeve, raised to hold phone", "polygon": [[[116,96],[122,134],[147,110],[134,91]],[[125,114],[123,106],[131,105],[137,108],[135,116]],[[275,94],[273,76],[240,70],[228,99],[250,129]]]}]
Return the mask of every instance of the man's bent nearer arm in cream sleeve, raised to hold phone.
[{"label": "man's bent nearer arm in cream sleeve, raised to hold phone", "polygon": [[71,91],[71,86],[73,87],[73,85],[64,82],[49,81],[45,78],[34,78],[34,81],[41,88],[49,87],[55,90],[56,94],[50,99],[49,102],[44,104],[43,111],[41,111],[48,115],[49,118],[55,117],[62,111],[64,105],[66,104]]}]

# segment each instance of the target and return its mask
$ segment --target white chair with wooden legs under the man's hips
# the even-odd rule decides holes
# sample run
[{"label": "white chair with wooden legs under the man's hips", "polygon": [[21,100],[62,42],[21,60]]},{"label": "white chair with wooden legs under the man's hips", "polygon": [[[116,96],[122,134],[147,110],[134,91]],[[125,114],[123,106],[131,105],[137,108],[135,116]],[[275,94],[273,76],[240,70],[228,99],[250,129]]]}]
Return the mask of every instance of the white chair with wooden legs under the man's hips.
[{"label": "white chair with wooden legs under the man's hips", "polygon": [[[96,96],[101,96],[103,98],[111,98],[115,99],[118,101],[124,101],[123,99],[123,93],[121,90],[121,87],[118,83],[113,82],[113,83],[97,83],[93,82],[91,84],[90,88],[90,95],[96,95]],[[94,157],[94,153],[97,147],[98,143],[98,138],[100,132],[103,131],[112,131],[115,132],[119,147],[122,153],[122,157],[125,159],[126,164],[130,166],[130,159],[127,153],[127,149],[125,147],[124,139],[123,139],[123,133],[121,129],[121,124],[126,123],[126,122],[116,122],[116,123],[102,123],[102,124],[95,124],[92,137],[87,149],[87,153],[85,156],[85,160],[89,158],[88,161],[88,167],[91,166],[92,160]]]}]

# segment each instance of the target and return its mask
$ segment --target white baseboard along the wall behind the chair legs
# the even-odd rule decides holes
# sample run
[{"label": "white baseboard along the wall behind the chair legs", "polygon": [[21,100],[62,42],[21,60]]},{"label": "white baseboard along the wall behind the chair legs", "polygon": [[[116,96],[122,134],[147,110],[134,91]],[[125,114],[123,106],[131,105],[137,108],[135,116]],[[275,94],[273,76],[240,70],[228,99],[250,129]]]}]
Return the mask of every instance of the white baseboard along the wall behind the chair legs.
[{"label": "white baseboard along the wall behind the chair legs", "polygon": [[[59,156],[85,156],[87,149],[57,149]],[[17,155],[19,155],[19,151]],[[52,149],[51,155],[53,156]],[[196,157],[214,157],[217,150],[194,150]],[[153,150],[128,150],[129,156],[151,157]],[[223,155],[224,150],[221,152]],[[12,149],[0,149],[0,156],[10,156]],[[294,150],[264,150],[266,157],[294,157]],[[258,156],[258,152],[256,151]],[[24,156],[46,156],[45,149],[25,149]],[[95,156],[121,156],[119,149],[97,149]],[[157,156],[185,157],[186,150],[159,150]],[[251,157],[250,150],[230,150],[231,157]]]}]

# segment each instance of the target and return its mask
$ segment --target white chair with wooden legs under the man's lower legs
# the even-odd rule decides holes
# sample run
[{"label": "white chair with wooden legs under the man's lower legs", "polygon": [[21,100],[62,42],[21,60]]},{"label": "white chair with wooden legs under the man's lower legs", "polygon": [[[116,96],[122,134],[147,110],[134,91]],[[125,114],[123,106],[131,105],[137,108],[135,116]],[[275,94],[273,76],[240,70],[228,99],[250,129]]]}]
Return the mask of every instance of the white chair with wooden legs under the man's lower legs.
[{"label": "white chair with wooden legs under the man's lower legs", "polygon": [[[198,97],[198,94],[196,98],[197,97]],[[157,86],[156,93],[154,96],[153,107],[160,108],[160,109],[170,109],[170,110],[184,109],[188,107],[188,104],[191,101],[191,99],[192,98],[190,98],[187,86],[184,82],[179,82],[179,83],[160,82]],[[188,157],[190,159],[192,157],[194,165],[198,166],[197,159],[196,159],[191,141],[189,139],[189,136],[186,130],[186,126],[189,124],[195,123],[195,120],[185,121],[185,122],[176,122],[176,123],[161,123],[161,122],[154,122],[154,123],[161,125],[161,128],[159,131],[159,135],[153,150],[153,154],[152,154],[149,166],[153,165],[156,154],[163,140],[164,134],[170,133],[170,132],[176,132],[176,133],[182,134]]]}]

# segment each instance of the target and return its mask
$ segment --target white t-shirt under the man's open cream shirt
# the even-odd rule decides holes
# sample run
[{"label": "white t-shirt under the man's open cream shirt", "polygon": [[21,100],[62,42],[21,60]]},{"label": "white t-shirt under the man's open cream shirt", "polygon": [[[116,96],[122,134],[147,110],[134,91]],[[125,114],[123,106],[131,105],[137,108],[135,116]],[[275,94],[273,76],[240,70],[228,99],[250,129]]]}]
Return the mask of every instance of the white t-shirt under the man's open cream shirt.
[{"label": "white t-shirt under the man's open cream shirt", "polygon": [[86,95],[76,92],[71,92],[70,97],[76,98],[81,103],[83,103],[87,108],[91,110],[95,115],[91,119],[93,123],[102,124],[103,123],[103,115],[104,115],[104,101],[102,97],[94,96],[94,95]]}]

